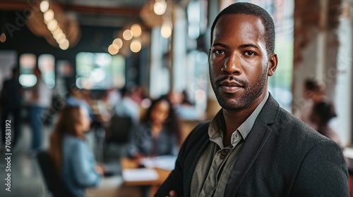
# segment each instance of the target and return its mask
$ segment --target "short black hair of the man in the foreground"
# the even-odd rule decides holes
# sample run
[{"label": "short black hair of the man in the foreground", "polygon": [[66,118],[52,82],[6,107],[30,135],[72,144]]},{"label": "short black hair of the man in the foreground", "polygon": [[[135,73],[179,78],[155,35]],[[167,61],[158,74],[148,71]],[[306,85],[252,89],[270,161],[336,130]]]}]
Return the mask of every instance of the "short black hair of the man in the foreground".
[{"label": "short black hair of the man in the foreground", "polygon": [[222,10],[217,15],[211,27],[211,45],[213,42],[213,30],[215,29],[215,25],[217,21],[220,19],[220,17],[226,14],[248,14],[248,15],[255,15],[258,18],[261,18],[263,25],[265,26],[266,51],[268,55],[270,55],[275,51],[275,23],[273,23],[273,19],[271,18],[270,14],[268,14],[268,12],[265,11],[265,9],[250,3],[232,4],[227,8],[225,8],[224,10]]}]

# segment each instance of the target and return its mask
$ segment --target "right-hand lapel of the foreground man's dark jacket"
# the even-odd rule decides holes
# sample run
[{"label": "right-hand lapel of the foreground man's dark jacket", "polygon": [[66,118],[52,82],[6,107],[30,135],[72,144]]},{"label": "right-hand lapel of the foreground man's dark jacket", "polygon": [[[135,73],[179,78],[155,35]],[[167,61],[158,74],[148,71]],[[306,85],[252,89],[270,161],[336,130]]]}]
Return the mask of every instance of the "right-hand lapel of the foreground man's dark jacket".
[{"label": "right-hand lapel of the foreground man's dark jacket", "polygon": [[235,193],[237,193],[241,181],[261,152],[268,136],[273,132],[273,130],[268,127],[268,124],[277,120],[279,110],[278,103],[270,95],[261,113],[256,118],[249,136],[246,137],[236,163],[234,163],[232,174],[229,176],[225,189],[225,196],[234,196]]}]

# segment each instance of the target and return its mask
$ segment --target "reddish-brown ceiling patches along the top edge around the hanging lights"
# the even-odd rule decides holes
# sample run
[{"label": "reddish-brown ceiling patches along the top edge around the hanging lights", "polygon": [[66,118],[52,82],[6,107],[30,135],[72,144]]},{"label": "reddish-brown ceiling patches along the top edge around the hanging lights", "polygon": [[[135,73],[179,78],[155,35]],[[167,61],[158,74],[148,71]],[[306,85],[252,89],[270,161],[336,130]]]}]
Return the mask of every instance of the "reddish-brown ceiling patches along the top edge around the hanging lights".
[{"label": "reddish-brown ceiling patches along the top edge around the hanging lights", "polygon": [[[40,0],[0,0],[0,10],[23,11]],[[80,25],[123,27],[140,23],[140,9],[152,0],[50,0],[75,15]],[[172,0],[187,4],[190,0]],[[32,3],[29,3],[32,2]]]}]

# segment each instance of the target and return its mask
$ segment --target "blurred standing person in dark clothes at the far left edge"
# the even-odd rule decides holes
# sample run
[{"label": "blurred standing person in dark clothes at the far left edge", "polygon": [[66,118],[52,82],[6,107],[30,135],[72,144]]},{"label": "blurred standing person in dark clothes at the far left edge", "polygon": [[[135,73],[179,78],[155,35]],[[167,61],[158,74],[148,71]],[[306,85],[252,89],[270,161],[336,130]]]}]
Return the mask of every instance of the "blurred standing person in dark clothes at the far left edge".
[{"label": "blurred standing person in dark clothes at the far left edge", "polygon": [[[11,127],[11,148],[14,148],[20,138],[20,110],[22,108],[22,87],[18,81],[18,68],[12,69],[12,77],[5,80],[2,86],[0,95],[0,109],[1,109],[1,131],[2,144],[5,145],[6,138],[6,120],[9,120]],[[10,115],[12,117],[10,118]]]}]

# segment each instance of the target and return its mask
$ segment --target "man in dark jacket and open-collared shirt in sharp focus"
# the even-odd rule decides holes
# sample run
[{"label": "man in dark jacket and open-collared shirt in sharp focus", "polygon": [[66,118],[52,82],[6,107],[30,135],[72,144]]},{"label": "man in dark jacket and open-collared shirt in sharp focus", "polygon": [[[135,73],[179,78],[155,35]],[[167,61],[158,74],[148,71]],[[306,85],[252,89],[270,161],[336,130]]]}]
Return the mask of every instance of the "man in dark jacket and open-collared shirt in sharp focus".
[{"label": "man in dark jacket and open-collared shirt in sharp focus", "polygon": [[209,65],[222,110],[193,129],[155,196],[349,196],[341,148],[268,93],[274,43],[263,8],[236,3],[217,15]]}]

